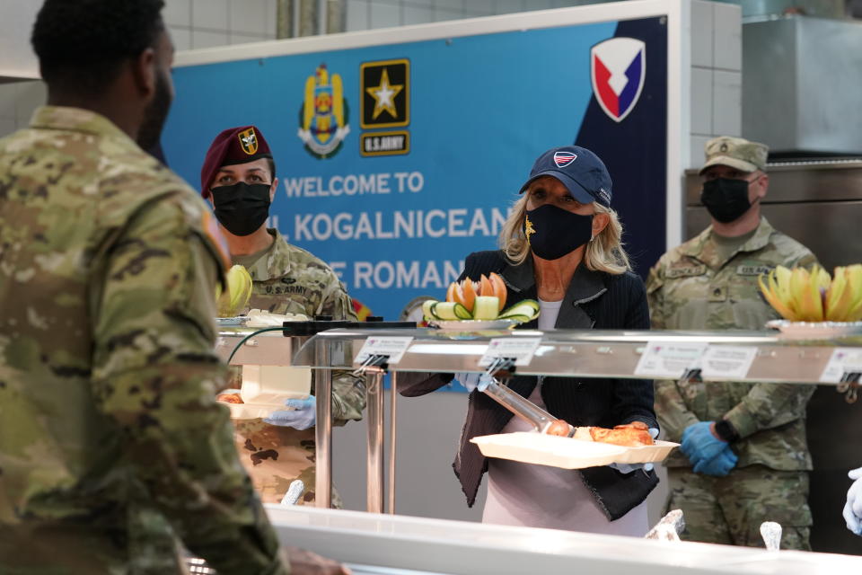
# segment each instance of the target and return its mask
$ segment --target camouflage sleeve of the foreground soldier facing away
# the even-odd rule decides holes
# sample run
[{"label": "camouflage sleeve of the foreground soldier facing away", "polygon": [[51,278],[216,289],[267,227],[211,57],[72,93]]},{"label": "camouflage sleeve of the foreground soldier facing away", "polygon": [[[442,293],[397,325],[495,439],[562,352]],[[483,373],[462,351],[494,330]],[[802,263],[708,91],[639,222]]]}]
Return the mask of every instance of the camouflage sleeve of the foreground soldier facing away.
[{"label": "camouflage sleeve of the foreground soldier facing away", "polygon": [[268,517],[215,401],[220,272],[179,197],[132,217],[98,260],[92,295],[94,395],[154,506],[223,575],[284,574]]}]

